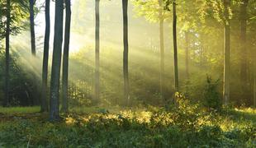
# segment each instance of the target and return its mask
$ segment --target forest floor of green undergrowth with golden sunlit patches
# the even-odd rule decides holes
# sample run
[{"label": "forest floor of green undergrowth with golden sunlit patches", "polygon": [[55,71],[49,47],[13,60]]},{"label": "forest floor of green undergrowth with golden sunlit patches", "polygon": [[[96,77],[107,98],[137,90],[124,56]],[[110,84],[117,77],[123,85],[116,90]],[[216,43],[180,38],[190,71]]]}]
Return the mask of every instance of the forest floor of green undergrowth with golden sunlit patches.
[{"label": "forest floor of green undergrowth with golden sunlit patches", "polygon": [[79,108],[59,123],[39,110],[0,107],[0,147],[256,147],[256,109]]}]

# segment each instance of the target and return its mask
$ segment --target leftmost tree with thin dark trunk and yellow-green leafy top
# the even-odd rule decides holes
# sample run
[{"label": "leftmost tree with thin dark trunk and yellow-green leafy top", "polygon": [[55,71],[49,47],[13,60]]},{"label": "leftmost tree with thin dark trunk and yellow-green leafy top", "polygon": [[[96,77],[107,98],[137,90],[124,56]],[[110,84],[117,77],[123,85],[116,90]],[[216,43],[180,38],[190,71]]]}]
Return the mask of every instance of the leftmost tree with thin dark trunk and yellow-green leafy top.
[{"label": "leftmost tree with thin dark trunk and yellow-green leafy top", "polygon": [[3,106],[10,102],[10,35],[17,35],[26,28],[24,20],[28,17],[26,7],[23,7],[23,1],[0,0],[0,40],[5,38],[5,78]]}]

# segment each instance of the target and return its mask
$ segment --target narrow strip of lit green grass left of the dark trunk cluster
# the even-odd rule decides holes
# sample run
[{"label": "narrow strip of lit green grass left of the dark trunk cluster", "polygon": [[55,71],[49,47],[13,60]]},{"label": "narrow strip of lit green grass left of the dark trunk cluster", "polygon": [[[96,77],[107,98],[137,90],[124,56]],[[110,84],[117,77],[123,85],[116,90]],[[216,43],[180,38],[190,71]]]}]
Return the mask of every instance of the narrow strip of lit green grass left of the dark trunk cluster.
[{"label": "narrow strip of lit green grass left of the dark trunk cluster", "polygon": [[33,106],[33,107],[9,107],[9,108],[3,108],[0,107],[0,113],[5,114],[13,114],[13,113],[36,113],[40,111],[39,106]]}]

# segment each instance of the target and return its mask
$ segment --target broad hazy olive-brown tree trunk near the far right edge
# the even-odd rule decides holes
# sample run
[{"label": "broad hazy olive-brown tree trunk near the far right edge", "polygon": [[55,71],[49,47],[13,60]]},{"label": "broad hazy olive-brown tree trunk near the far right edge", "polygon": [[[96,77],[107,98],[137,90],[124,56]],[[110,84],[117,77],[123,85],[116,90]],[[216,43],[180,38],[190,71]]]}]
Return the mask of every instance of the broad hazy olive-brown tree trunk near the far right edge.
[{"label": "broad hazy olive-brown tree trunk near the far right edge", "polygon": [[243,0],[240,6],[240,60],[241,60],[241,67],[240,67],[240,85],[242,88],[242,98],[246,99],[249,94],[249,77],[248,77],[248,50],[246,48],[246,21],[247,21],[247,8],[248,0]]}]

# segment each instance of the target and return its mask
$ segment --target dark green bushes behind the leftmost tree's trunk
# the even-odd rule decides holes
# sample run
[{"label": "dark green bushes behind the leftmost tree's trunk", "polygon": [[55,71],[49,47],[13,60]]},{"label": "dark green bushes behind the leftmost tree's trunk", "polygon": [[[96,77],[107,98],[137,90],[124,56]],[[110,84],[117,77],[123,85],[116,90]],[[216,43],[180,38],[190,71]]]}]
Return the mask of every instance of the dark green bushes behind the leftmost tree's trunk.
[{"label": "dark green bushes behind the leftmost tree's trunk", "polygon": [[[0,66],[5,67],[4,53],[0,53]],[[21,56],[12,53],[10,57],[10,104],[11,106],[36,105],[36,94],[38,90],[34,86],[34,77],[31,71],[27,72],[21,66]],[[19,61],[19,62],[17,62]],[[4,68],[0,69],[0,88],[4,90],[5,72]],[[3,99],[3,92],[0,91],[0,102]]]}]

